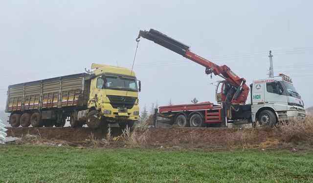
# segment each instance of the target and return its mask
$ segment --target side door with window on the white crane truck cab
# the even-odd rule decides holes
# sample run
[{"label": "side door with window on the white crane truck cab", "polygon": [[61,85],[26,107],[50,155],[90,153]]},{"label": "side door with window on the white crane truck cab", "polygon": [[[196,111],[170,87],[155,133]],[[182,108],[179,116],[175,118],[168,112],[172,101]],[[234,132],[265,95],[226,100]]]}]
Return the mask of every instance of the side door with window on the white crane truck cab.
[{"label": "side door with window on the white crane truck cab", "polygon": [[276,111],[287,110],[288,99],[286,91],[278,81],[265,83],[265,103],[272,104]]}]

